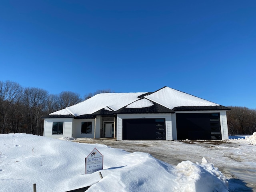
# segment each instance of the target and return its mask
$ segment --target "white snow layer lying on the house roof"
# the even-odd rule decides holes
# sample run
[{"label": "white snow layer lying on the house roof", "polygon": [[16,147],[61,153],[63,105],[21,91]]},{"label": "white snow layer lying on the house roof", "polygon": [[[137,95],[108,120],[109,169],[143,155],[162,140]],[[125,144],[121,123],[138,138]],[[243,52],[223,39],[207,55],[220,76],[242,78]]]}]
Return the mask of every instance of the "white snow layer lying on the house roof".
[{"label": "white snow layer lying on the house roof", "polygon": [[178,90],[164,87],[156,92],[137,92],[137,93],[102,93],[97,94],[83,102],[67,107],[65,109],[51,113],[50,115],[73,115],[80,116],[93,114],[105,109],[114,112],[126,108],[147,108],[152,105],[160,104],[170,110],[175,107],[202,107],[220,106],[219,104],[180,92]]}]

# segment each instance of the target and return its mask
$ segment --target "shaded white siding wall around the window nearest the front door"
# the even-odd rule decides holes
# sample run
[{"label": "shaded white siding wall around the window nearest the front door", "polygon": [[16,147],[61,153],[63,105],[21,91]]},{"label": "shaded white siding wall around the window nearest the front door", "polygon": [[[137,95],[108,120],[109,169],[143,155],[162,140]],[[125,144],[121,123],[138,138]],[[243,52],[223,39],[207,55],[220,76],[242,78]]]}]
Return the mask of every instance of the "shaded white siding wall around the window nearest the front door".
[{"label": "shaded white siding wall around the window nearest the front door", "polygon": [[[81,134],[82,122],[92,122],[92,133],[91,134]],[[76,138],[94,138],[94,125],[95,119],[74,119],[74,127],[73,127],[73,137]],[[97,128],[97,127],[96,127]]]}]

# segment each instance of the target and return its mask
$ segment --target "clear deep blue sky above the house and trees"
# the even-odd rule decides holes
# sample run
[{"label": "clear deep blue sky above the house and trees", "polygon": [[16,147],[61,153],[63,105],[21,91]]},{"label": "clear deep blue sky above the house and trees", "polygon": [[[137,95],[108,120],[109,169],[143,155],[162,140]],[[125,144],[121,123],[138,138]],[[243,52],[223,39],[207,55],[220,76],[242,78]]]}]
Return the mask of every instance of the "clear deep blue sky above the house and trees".
[{"label": "clear deep blue sky above the house and trees", "polygon": [[1,1],[0,80],[256,109],[256,1]]}]

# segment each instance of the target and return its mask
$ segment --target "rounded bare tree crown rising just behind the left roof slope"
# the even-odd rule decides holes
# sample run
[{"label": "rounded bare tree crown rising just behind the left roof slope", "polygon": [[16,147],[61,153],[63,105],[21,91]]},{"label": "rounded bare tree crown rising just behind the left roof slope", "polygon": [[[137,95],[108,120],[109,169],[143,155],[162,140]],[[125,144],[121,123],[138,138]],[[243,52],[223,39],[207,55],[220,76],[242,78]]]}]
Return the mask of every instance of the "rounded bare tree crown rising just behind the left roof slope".
[{"label": "rounded bare tree crown rising just behind the left roof slope", "polygon": [[60,94],[58,94],[56,108],[63,109],[74,104],[77,104],[81,101],[82,99],[80,98],[80,95],[78,93],[74,93],[71,91],[62,91]]}]

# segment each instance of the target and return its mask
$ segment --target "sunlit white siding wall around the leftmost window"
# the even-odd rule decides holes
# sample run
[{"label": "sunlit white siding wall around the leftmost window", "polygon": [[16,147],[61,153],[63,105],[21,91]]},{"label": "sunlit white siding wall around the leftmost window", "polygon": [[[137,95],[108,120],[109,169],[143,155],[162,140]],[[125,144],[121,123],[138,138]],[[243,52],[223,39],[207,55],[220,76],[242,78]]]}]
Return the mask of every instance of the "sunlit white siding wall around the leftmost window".
[{"label": "sunlit white siding wall around the leftmost window", "polygon": [[[52,134],[52,122],[64,122],[62,135]],[[73,124],[73,118],[44,119],[44,137],[50,137],[50,138],[71,137],[72,124]]]}]

